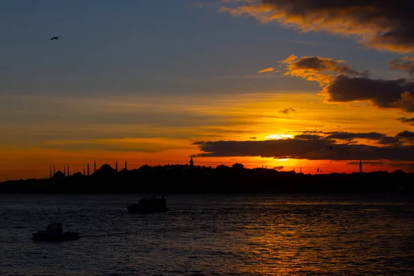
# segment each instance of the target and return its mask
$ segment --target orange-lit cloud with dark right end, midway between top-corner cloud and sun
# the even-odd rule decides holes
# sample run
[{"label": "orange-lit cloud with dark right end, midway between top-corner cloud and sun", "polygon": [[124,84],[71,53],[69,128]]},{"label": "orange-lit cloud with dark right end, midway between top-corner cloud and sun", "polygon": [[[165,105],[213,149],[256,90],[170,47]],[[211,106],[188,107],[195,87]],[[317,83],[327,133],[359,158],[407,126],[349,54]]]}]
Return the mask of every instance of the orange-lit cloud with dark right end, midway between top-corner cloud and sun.
[{"label": "orange-lit cloud with dark right end, midway between top-corner cloud and sun", "polygon": [[408,79],[370,79],[368,71],[323,57],[290,55],[281,63],[286,66],[285,75],[319,82],[328,102],[370,101],[377,108],[414,112],[414,82]]}]

